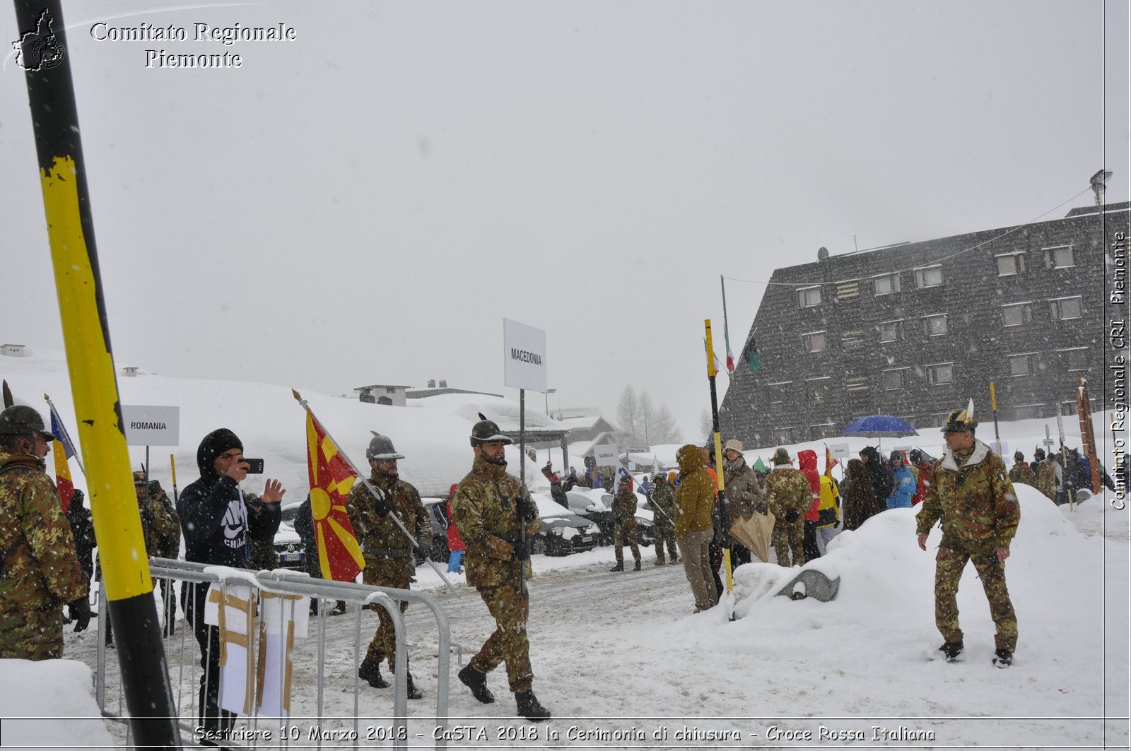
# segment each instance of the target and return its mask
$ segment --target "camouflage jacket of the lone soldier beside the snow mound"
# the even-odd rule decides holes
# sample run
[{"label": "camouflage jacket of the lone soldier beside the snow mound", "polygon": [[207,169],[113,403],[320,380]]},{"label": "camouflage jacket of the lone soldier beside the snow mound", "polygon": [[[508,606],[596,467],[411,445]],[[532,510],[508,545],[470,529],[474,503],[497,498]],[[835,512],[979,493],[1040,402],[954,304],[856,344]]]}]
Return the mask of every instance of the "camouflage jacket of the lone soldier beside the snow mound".
[{"label": "camouflage jacket of the lone soldier beside the snow mound", "polygon": [[942,544],[1009,547],[1021,509],[1005,463],[979,440],[973,449],[947,451],[934,467],[915,534],[925,535],[942,519]]}]

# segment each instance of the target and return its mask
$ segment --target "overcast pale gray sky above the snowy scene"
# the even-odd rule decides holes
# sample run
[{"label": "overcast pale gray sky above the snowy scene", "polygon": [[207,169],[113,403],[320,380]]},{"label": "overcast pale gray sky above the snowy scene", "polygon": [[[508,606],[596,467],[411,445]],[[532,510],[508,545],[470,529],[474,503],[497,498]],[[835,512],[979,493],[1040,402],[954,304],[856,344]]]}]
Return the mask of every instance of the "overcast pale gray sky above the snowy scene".
[{"label": "overcast pale gray sky above the snowy scene", "polygon": [[[720,274],[750,280],[727,284],[737,354],[759,283],[821,245],[1068,201],[1055,218],[1102,166],[1128,200],[1126,2],[175,7],[64,8],[115,359],[169,376],[517,397],[510,318],[546,331],[551,408],[614,417],[632,385],[697,439]],[[297,38],[193,42],[197,23]],[[18,38],[10,5],[0,26]],[[243,62],[146,68],[147,49]],[[0,174],[0,339],[61,349],[10,54]]]}]

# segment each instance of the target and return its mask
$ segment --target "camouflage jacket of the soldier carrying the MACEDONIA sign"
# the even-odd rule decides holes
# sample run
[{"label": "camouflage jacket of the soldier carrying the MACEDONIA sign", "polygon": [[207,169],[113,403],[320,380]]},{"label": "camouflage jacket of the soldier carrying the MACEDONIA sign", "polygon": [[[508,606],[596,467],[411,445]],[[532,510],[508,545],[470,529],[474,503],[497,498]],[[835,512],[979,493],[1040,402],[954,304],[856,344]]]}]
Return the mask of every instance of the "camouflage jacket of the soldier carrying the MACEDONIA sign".
[{"label": "camouflage jacket of the soldier carrying the MACEDONIA sign", "polygon": [[[464,560],[469,587],[517,585],[521,575],[530,578],[529,561],[523,569],[515,560],[521,532],[517,509],[520,492],[518,478],[507,474],[506,465],[482,457],[475,457],[472,471],[459,481],[451,497],[451,521],[467,545]],[[527,521],[527,539],[541,528],[541,520]]]}]

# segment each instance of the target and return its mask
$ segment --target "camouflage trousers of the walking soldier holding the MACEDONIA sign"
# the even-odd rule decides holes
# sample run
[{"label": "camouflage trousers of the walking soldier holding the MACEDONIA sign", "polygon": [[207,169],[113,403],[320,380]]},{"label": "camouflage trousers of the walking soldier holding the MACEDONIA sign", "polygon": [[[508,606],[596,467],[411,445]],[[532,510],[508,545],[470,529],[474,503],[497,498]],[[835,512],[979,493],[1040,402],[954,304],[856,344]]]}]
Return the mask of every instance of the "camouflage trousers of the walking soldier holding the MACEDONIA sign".
[{"label": "camouflage trousers of the walking soldier holding the MACEDONIA sign", "polygon": [[513,693],[529,691],[534,684],[530,668],[530,640],[526,637],[526,620],[530,614],[529,595],[521,585],[504,584],[498,587],[476,587],[487,611],[495,620],[495,630],[470,665],[481,673],[490,673],[499,663],[507,664],[507,682]]}]

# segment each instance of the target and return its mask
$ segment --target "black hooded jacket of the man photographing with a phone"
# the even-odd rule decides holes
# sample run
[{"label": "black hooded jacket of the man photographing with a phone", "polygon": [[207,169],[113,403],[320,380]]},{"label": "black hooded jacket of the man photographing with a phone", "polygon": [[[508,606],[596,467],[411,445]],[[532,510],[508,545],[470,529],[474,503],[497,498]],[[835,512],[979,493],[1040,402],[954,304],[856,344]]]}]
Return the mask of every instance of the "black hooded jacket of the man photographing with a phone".
[{"label": "black hooded jacket of the man photographing with a phone", "polygon": [[278,503],[249,504],[239,483],[216,473],[216,457],[232,448],[243,444],[226,428],[205,435],[197,448],[200,477],[181,492],[176,503],[187,561],[243,569],[251,539],[270,541],[278,532]]}]

